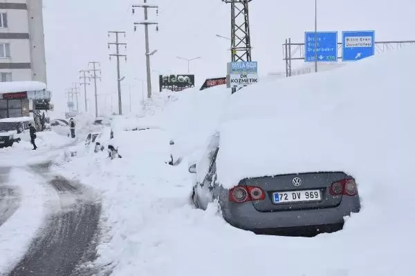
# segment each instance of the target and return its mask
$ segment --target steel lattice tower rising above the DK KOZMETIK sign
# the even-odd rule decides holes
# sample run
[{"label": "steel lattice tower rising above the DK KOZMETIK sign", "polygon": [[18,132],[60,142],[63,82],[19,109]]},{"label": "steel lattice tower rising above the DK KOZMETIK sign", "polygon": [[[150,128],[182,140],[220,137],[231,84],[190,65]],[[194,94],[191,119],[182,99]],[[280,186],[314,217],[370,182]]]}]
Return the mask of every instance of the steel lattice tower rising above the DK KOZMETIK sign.
[{"label": "steel lattice tower rising above the DK KOZMETIK sign", "polygon": [[[230,3],[231,61],[252,61],[248,3],[252,0],[222,0]],[[236,92],[232,88],[232,93]]]}]

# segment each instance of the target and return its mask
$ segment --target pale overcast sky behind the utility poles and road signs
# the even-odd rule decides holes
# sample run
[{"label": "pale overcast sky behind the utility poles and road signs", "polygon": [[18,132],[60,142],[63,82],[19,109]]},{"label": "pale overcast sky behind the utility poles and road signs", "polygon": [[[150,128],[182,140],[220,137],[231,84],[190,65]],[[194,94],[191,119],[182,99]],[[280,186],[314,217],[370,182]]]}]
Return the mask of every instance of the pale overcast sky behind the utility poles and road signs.
[{"label": "pale overcast sky behind the utility poles and road signs", "polygon": [[[44,0],[44,31],[48,88],[53,91],[57,109],[64,109],[68,97],[66,89],[79,81],[79,70],[87,69],[89,61],[100,61],[102,82],[98,83],[100,108],[111,105],[116,111],[116,61],[109,61],[113,53],[107,42],[109,30],[126,31],[127,62],[122,61],[123,106],[129,110],[129,88],[134,107],[142,98],[145,79],[144,27],[133,32],[133,22],[143,19],[143,11],[131,14],[130,0]],[[196,82],[206,77],[221,77],[226,73],[230,59],[230,5],[221,0],[149,0],[160,6],[149,11],[149,19],[159,22],[159,32],[150,26],[150,50],[158,50],[151,57],[151,69],[160,72],[187,73],[187,61],[177,56],[202,57],[191,63]],[[414,0],[318,0],[317,27],[319,30],[375,30],[376,41],[415,40]],[[293,42],[304,42],[304,31],[314,28],[313,0],[253,0],[250,3],[252,32],[252,59],[258,61],[259,74],[284,70],[282,43],[291,37]],[[122,37],[122,39],[124,39]],[[339,37],[340,41],[341,37]],[[302,66],[301,61],[293,67]],[[153,74],[154,90],[158,89],[158,72]],[[83,89],[83,88],[82,88]],[[89,102],[93,106],[93,86],[88,87]],[[107,95],[107,96],[106,96]],[[80,97],[80,103],[83,97]],[[80,104],[80,106],[82,106]],[[83,108],[80,108],[83,110]]]}]

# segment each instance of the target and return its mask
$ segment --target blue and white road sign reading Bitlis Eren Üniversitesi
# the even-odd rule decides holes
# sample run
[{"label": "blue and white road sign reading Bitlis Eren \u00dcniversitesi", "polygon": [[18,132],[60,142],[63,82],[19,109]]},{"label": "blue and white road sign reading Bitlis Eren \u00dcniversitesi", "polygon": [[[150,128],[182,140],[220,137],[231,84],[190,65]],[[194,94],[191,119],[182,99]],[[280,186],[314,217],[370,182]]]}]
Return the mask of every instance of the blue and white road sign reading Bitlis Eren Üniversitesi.
[{"label": "blue and white road sign reading Bitlis Eren \u00dcniversitesi", "polygon": [[375,32],[345,31],[342,33],[343,61],[358,61],[375,55]]}]

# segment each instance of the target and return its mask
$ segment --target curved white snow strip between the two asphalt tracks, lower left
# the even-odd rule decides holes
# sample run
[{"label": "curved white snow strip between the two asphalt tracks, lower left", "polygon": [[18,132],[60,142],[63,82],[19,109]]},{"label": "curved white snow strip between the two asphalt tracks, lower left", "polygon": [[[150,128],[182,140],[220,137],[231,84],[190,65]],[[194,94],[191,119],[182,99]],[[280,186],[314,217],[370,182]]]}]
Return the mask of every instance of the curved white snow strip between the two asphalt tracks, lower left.
[{"label": "curved white snow strip between the two asphalt tracks, lower left", "polygon": [[49,193],[42,179],[26,170],[10,172],[10,186],[19,189],[20,206],[0,227],[0,274],[19,262],[46,217]]}]

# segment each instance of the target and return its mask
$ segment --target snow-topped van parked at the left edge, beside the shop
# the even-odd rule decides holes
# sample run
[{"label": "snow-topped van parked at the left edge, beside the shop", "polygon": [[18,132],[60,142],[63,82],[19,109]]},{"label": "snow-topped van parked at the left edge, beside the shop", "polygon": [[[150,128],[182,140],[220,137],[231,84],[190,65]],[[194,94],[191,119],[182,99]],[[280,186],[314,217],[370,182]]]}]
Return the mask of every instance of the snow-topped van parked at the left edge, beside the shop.
[{"label": "snow-topped van parked at the left edge, beside the shop", "polygon": [[0,148],[13,146],[21,140],[30,141],[30,123],[35,124],[31,117],[0,119]]}]

